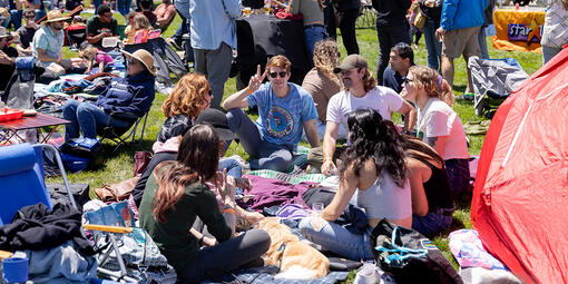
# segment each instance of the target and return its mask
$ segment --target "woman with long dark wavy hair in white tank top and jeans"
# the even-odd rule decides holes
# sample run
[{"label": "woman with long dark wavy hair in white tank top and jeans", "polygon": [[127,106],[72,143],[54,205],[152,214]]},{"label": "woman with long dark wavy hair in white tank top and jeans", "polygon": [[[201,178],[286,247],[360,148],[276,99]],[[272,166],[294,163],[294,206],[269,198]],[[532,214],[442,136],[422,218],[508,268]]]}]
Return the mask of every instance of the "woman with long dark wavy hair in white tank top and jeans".
[{"label": "woman with long dark wavy hair in white tank top and jeans", "polygon": [[[391,131],[374,109],[359,109],[347,119],[351,145],[343,153],[340,186],[321,216],[300,223],[302,235],[351,259],[373,257],[369,236],[382,218],[412,226],[411,192],[401,136]],[[369,226],[354,234],[333,223],[356,194],[356,205],[365,210]]]}]

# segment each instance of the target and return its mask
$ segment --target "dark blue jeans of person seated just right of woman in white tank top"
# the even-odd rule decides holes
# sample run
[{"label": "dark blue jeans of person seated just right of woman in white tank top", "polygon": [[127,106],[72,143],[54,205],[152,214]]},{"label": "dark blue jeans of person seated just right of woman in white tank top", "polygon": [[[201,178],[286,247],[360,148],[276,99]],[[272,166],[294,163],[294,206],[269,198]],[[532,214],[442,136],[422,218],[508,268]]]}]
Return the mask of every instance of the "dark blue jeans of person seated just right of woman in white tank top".
[{"label": "dark blue jeans of person seated just right of woman in white tank top", "polygon": [[425,216],[418,216],[412,214],[412,228],[420,234],[431,236],[450,228],[453,217],[454,208],[438,208],[434,212],[429,212]]}]

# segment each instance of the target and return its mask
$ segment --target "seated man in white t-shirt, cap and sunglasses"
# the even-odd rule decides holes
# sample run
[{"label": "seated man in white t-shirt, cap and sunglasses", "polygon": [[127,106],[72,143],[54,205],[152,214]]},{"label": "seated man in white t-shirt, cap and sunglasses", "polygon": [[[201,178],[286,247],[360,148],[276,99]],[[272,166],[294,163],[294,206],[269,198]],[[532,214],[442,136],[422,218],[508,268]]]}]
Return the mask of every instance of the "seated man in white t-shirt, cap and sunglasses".
[{"label": "seated man in white t-shirt, cap and sunglasses", "polygon": [[[325,135],[323,136],[323,160],[321,172],[331,175],[336,169],[334,164],[335,144],[340,125],[347,129],[347,117],[351,112],[362,109],[376,109],[383,119],[391,119],[396,111],[409,119],[404,119],[404,131],[414,127],[415,109],[399,95],[386,87],[376,86],[376,80],[368,70],[365,59],[359,55],[350,55],[333,70],[341,72],[344,90],[333,96],[327,104]],[[311,153],[309,160],[317,167],[317,150]],[[337,155],[335,155],[337,156]],[[314,163],[315,161],[315,163]]]}]

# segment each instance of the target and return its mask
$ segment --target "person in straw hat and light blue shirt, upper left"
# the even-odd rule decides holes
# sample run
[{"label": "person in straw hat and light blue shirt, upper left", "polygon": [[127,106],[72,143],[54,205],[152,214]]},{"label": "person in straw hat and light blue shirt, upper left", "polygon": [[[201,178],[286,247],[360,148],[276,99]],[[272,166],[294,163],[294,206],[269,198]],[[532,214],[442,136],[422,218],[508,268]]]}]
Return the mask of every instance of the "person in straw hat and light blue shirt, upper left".
[{"label": "person in straw hat and light blue shirt, upper left", "polygon": [[71,67],[71,60],[63,59],[61,48],[63,47],[63,22],[69,17],[63,17],[59,10],[48,12],[47,20],[41,22],[41,27],[31,40],[31,51],[39,65],[53,71],[55,74],[65,74],[65,69]]}]

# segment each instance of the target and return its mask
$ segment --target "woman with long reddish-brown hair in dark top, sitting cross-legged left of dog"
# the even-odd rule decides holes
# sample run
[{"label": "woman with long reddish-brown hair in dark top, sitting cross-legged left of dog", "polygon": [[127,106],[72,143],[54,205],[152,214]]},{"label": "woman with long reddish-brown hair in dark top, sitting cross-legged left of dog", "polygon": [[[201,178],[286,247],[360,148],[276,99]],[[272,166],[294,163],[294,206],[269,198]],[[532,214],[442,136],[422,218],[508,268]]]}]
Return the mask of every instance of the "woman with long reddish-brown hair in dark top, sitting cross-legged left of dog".
[{"label": "woman with long reddish-brown hair in dark top, sitting cross-legged left of dog", "polygon": [[[261,229],[232,238],[235,182],[226,174],[217,175],[219,147],[210,125],[194,126],[182,138],[177,159],[159,164],[144,192],[140,226],[174,266],[178,283],[196,283],[256,263],[271,243]],[[206,182],[217,184],[225,204],[223,213]],[[202,247],[204,235],[192,229],[196,217],[217,245]]]}]

